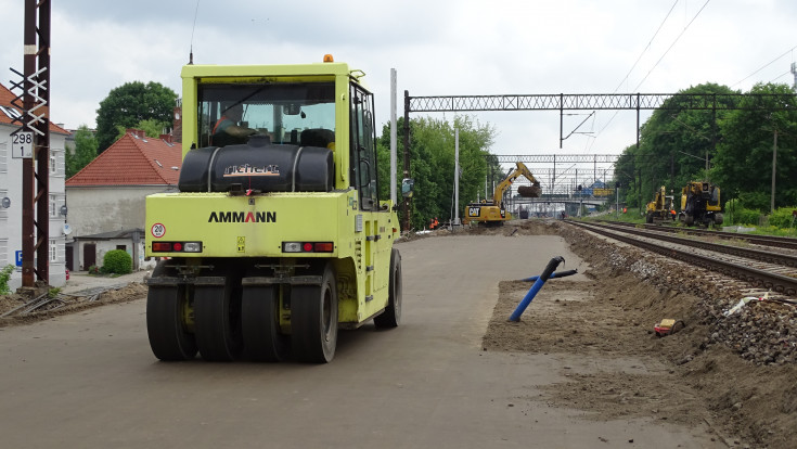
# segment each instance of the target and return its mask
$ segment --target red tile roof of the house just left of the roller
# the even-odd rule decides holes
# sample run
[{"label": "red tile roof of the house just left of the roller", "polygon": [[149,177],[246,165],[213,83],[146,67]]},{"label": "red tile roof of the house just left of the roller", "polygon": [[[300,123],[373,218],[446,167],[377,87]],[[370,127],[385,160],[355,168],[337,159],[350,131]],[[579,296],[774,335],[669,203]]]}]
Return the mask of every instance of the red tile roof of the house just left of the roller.
[{"label": "red tile roof of the house just left of the roller", "polygon": [[177,185],[181,166],[179,143],[145,138],[142,131],[128,129],[125,136],[67,179],[66,187]]}]

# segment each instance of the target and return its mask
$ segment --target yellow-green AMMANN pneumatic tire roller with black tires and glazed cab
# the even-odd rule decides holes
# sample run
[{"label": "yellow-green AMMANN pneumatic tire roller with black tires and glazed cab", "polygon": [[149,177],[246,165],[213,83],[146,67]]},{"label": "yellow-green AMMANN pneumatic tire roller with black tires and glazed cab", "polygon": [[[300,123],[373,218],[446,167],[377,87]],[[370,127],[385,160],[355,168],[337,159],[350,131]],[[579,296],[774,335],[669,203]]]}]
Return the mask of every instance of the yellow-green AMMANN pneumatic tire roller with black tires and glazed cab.
[{"label": "yellow-green AMMANN pneumatic tire roller with black tires and glazed cab", "polygon": [[179,192],[146,197],[155,357],[323,363],[338,328],[399,324],[399,222],[377,197],[362,76],[329,55],[183,67]]}]

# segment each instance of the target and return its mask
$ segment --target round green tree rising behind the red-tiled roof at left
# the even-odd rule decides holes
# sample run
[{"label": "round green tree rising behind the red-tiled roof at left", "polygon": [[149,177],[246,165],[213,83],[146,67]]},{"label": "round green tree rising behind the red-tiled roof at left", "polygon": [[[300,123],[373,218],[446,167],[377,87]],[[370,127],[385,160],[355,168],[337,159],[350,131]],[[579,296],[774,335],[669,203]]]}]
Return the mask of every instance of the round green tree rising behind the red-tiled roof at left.
[{"label": "round green tree rising behind the red-tiled roof at left", "polygon": [[117,127],[134,128],[142,120],[155,120],[158,129],[171,123],[177,93],[159,82],[132,81],[113,89],[97,110],[97,139],[100,152],[114,143]]}]

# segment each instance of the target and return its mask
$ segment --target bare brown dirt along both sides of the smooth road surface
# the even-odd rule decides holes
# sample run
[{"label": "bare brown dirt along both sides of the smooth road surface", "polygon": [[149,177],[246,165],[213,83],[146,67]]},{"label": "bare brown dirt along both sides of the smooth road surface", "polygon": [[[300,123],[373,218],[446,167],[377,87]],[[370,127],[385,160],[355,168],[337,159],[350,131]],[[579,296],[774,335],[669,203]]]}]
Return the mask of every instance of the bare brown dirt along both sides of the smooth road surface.
[{"label": "bare brown dirt along both sides of the smooth road surface", "polygon": [[[679,262],[606,243],[557,221],[458,232],[463,233],[563,235],[591,267],[584,272],[587,282],[549,280],[519,322],[509,322],[507,317],[531,283],[503,280],[498,285],[485,350],[577,360],[565,367],[568,382],[543,386],[542,396],[532,400],[581,410],[593,420],[650,418],[686,426],[707,424],[729,447],[797,447],[797,364],[775,358],[761,362],[769,359],[747,357],[755,345],[742,347],[733,343],[738,342],[733,335],[718,337],[728,326],[718,322],[717,310],[742,293],[703,280],[705,273],[684,273]],[[412,239],[449,234],[439,230]],[[50,310],[2,318],[0,326],[140,299],[145,293],[146,287],[136,282],[92,298],[64,296]],[[25,302],[17,295],[0,296],[0,315]],[[794,307],[785,311],[766,307],[750,306],[777,319],[797,317]],[[665,318],[681,320],[683,326],[658,337],[653,328]],[[750,339],[747,334],[742,337]]]}]

